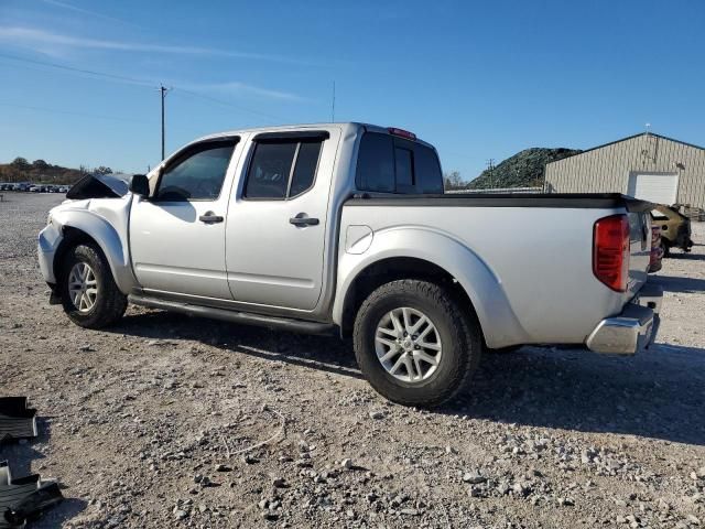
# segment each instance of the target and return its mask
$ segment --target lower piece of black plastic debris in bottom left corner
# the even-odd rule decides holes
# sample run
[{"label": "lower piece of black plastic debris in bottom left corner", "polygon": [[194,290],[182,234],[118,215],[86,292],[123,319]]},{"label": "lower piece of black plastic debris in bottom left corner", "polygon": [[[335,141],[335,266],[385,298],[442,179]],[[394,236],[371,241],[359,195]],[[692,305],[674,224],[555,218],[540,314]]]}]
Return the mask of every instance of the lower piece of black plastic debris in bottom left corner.
[{"label": "lower piece of black plastic debris in bottom left corner", "polygon": [[62,499],[56,482],[42,482],[39,474],[13,479],[8,462],[0,462],[0,529],[23,527]]}]

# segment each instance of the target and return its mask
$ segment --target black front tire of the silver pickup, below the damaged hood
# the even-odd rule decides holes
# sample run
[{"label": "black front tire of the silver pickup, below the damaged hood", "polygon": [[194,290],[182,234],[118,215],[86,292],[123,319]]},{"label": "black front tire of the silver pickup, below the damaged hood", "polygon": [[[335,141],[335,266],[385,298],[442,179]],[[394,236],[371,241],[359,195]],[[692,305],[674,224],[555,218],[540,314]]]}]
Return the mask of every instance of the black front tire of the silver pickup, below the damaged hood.
[{"label": "black front tire of the silver pickup, below the damaged hood", "polygon": [[[70,291],[72,285],[76,285],[76,277],[72,277],[72,272],[80,271],[83,267],[89,267],[93,272],[88,278],[90,288],[95,285],[97,289],[95,295],[91,296],[93,305],[84,304],[84,299],[75,303],[75,293]],[[90,288],[88,290],[90,290]],[[128,306],[128,299],[118,290],[112,279],[112,272],[102,251],[93,244],[80,244],[66,252],[64,262],[62,263],[62,273],[59,280],[59,289],[62,296],[62,305],[64,312],[69,320],[76,325],[86,328],[102,328],[117,323],[124,314]]]}]

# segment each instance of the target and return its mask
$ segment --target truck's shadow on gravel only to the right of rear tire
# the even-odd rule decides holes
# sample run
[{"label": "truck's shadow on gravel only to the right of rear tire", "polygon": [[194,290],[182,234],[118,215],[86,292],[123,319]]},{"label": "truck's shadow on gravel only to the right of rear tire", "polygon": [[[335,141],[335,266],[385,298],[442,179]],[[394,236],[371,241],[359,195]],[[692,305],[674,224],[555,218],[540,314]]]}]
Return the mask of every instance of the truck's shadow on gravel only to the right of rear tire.
[{"label": "truck's shadow on gravel only to the right of rear tire", "polygon": [[705,444],[705,349],[659,344],[631,358],[524,347],[487,355],[447,413]]}]

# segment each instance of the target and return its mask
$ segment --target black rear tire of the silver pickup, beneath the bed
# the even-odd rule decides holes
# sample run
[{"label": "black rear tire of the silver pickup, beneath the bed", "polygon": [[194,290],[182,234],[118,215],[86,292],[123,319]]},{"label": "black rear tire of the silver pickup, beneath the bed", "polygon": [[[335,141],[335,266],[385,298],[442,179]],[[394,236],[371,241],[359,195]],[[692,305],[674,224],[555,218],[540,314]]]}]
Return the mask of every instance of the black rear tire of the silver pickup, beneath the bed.
[{"label": "black rear tire of the silver pickup, beneath the bed", "polygon": [[[426,375],[427,378],[417,377],[415,381],[400,379],[404,376],[409,378],[406,367],[403,369],[399,367],[395,374],[390,373],[389,365],[393,361],[397,366],[401,355],[392,357],[387,364],[388,367],[384,367],[380,359],[388,356],[387,353],[391,354],[392,347],[386,350],[388,345],[380,344],[378,339],[380,337],[387,339],[387,333],[395,332],[398,327],[391,314],[394,311],[403,311],[402,307],[410,310],[412,322],[419,317],[415,320],[419,323],[421,317],[417,313],[421,313],[434,326],[425,337],[419,338],[420,334],[409,337],[419,338],[417,344],[425,341],[440,341],[434,344],[441,347],[437,365],[430,375]],[[401,317],[397,319],[398,323]],[[406,314],[403,317],[405,319]],[[381,327],[387,330],[381,332]],[[404,328],[413,328],[413,325]],[[421,327],[421,334],[424,334],[423,328]],[[454,398],[468,385],[482,350],[480,326],[471,307],[462,306],[452,292],[438,284],[410,279],[383,284],[365,300],[355,320],[352,338],[355,356],[365,378],[377,392],[404,406],[431,408]],[[391,337],[389,341],[394,342]],[[409,347],[409,344],[405,342],[403,345],[398,344],[394,350],[401,350],[401,347]],[[408,355],[412,355],[412,358],[416,358],[414,355],[419,354],[414,347],[404,349]],[[422,350],[433,353],[432,349],[422,348]],[[419,360],[410,361],[412,370],[419,375]]]}]

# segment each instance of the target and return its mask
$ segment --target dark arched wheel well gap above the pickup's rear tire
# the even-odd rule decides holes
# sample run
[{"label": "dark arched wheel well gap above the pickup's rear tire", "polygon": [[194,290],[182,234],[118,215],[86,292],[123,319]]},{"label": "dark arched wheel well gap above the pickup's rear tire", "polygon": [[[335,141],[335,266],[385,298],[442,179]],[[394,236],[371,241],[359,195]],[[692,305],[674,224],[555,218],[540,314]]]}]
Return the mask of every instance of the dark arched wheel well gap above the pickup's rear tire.
[{"label": "dark arched wheel well gap above the pickup's rear tire", "polygon": [[462,306],[468,307],[473,317],[477,317],[469,295],[446,270],[424,259],[394,257],[373,262],[357,274],[345,296],[340,334],[344,337],[351,336],[355,316],[360,305],[377,288],[400,279],[420,279],[441,284],[457,296]]}]

